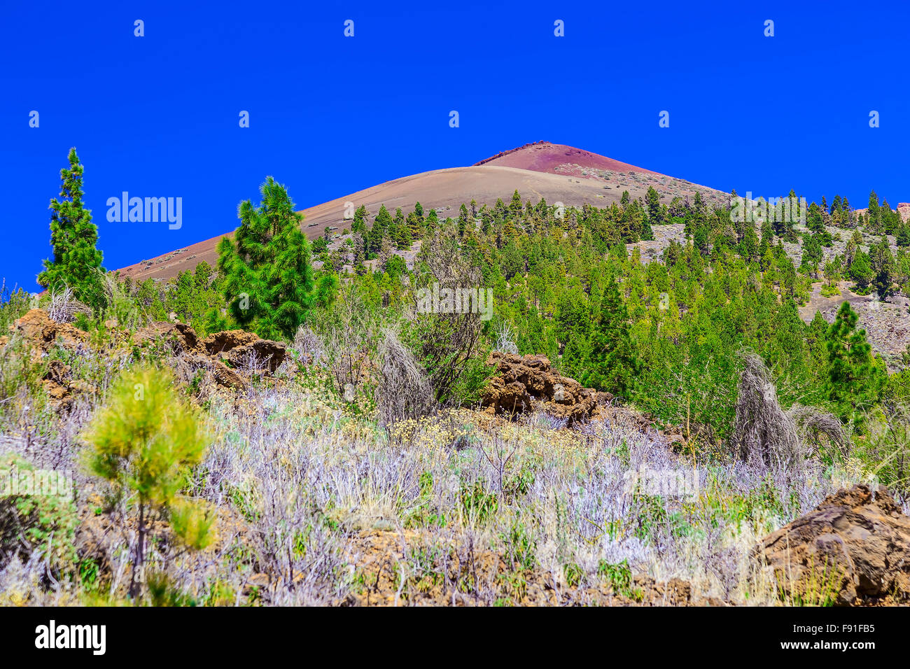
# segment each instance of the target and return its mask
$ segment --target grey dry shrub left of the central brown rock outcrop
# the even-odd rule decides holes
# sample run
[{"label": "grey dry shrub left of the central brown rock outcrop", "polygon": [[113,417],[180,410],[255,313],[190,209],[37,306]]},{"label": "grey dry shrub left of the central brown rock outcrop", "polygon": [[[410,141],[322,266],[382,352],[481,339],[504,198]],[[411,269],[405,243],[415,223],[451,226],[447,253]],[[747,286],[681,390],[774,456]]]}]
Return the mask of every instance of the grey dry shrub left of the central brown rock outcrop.
[{"label": "grey dry shrub left of the central brown rock outcrop", "polygon": [[434,410],[430,380],[395,330],[383,330],[377,360],[376,405],[380,425],[386,427],[396,421],[418,419]]}]

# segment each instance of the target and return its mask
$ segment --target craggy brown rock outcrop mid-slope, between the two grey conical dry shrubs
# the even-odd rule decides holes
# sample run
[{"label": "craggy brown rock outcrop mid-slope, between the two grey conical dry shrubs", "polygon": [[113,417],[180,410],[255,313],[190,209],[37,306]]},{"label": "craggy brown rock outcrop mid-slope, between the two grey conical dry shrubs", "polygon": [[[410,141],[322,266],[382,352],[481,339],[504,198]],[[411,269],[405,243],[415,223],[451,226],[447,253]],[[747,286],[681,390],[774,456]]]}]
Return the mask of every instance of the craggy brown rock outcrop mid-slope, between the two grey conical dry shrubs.
[{"label": "craggy brown rock outcrop mid-slope, between the two grey conical dry shrubs", "polygon": [[490,413],[517,415],[546,411],[572,426],[595,417],[613,396],[584,388],[581,383],[551,369],[542,355],[513,355],[493,351],[487,360],[496,368],[480,394],[480,406]]}]

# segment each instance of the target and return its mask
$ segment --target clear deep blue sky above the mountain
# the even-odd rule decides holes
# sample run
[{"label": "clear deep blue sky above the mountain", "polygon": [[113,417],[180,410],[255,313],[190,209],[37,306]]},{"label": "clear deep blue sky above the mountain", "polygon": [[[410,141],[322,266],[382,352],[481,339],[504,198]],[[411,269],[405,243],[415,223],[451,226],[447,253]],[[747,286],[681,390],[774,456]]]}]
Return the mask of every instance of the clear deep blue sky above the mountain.
[{"label": "clear deep blue sky above the mountain", "polygon": [[[267,175],[304,208],[539,139],[756,197],[910,201],[905,2],[383,5],[5,3],[0,278],[38,288],[73,146],[108,269],[235,228]],[[183,198],[182,228],[108,223],[124,190]]]}]

